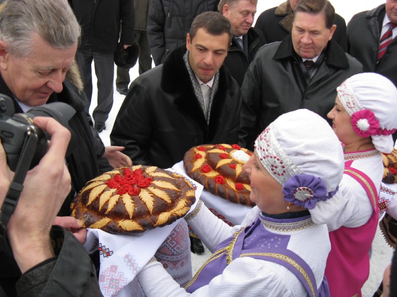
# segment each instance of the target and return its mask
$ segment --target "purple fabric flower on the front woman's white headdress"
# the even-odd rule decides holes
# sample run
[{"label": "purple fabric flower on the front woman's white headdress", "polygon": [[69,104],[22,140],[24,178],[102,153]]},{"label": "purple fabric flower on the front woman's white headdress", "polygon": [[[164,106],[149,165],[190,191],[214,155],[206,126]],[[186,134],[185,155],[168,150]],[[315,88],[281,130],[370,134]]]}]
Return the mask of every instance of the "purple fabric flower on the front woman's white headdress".
[{"label": "purple fabric flower on the front woman's white headdress", "polygon": [[319,200],[328,200],[335,195],[335,191],[328,193],[324,181],[310,174],[295,174],[282,187],[284,200],[295,205],[313,209]]}]

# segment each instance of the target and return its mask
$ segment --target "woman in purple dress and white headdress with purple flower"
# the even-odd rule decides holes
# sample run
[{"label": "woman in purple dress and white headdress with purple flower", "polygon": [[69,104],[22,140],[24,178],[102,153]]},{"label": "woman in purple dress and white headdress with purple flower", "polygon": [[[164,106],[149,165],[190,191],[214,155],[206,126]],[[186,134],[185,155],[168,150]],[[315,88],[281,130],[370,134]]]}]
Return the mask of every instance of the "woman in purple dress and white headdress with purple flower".
[{"label": "woman in purple dress and white headdress with purple flower", "polygon": [[328,229],[307,209],[337,191],[340,144],[324,119],[301,109],[276,119],[255,147],[243,170],[257,206],[230,227],[199,201],[186,219],[213,255],[185,289],[152,259],[136,276],[147,297],[329,296]]}]

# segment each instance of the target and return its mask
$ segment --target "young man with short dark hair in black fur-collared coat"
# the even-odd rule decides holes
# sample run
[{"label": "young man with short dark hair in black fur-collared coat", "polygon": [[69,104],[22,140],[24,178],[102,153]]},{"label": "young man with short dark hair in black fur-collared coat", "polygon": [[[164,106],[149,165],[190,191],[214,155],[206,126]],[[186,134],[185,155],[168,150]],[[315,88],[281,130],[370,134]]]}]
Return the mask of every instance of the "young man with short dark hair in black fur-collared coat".
[{"label": "young man with short dark hair in black fur-collared coat", "polygon": [[[199,14],[186,46],[173,50],[163,64],[132,82],[110,134],[111,143],[125,146],[134,164],[160,168],[172,167],[194,146],[236,143],[240,88],[222,66],[231,38],[224,16]],[[204,251],[201,245],[197,249]],[[187,275],[179,277],[178,283],[188,281]]]}]

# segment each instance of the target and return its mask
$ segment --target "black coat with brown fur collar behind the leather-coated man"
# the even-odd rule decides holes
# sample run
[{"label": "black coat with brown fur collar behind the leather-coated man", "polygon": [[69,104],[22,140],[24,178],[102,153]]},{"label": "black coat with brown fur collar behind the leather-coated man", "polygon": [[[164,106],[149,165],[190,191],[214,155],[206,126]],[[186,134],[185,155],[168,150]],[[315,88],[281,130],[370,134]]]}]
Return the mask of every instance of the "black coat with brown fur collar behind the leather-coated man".
[{"label": "black coat with brown fur collar behind the leather-coated man", "polygon": [[[292,30],[293,11],[288,2],[283,2],[277,7],[265,10],[258,17],[255,28],[260,30],[265,37],[265,44],[282,41]],[[335,13],[336,30],[332,39],[346,51],[346,22]]]}]

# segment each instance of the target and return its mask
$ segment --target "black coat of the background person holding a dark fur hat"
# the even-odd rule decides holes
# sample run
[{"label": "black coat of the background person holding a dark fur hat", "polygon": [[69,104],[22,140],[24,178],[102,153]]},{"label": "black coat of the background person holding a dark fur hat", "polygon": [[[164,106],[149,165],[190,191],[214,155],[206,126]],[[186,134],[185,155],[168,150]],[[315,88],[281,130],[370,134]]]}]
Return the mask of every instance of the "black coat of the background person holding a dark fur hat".
[{"label": "black coat of the background person holding a dark fur hat", "polygon": [[69,3],[82,28],[79,47],[114,53],[119,39],[123,45],[133,45],[133,0],[69,0]]}]

